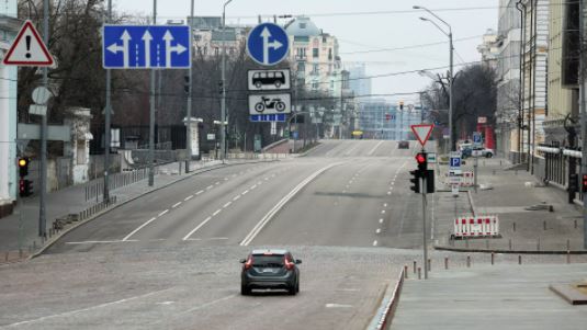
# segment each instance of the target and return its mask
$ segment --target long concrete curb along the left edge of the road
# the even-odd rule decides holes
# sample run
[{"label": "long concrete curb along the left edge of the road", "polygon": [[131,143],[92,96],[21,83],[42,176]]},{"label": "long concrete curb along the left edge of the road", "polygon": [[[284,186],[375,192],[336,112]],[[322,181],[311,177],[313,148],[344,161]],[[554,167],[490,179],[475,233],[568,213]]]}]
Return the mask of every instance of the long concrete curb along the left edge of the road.
[{"label": "long concrete curb along the left edge of the road", "polygon": [[126,201],[124,201],[124,202],[122,202],[120,204],[114,204],[112,207],[105,208],[104,210],[94,214],[93,216],[84,219],[83,221],[79,221],[79,223],[77,223],[76,225],[74,225],[74,226],[71,226],[69,228],[67,228],[67,229],[65,229],[63,231],[59,231],[59,234],[53,236],[49,240],[47,240],[45,242],[45,244],[38,251],[36,251],[36,252],[30,254],[27,258],[22,259],[22,260],[16,261],[16,262],[29,261],[31,259],[37,258],[41,254],[43,254],[48,248],[50,248],[53,244],[55,244],[55,242],[57,242],[61,237],[64,237],[69,231],[71,231],[71,230],[74,230],[74,229],[76,229],[76,228],[78,228],[78,227],[80,227],[80,226],[82,226],[82,225],[84,225],[84,224],[87,224],[87,223],[89,223],[89,221],[91,221],[91,220],[93,220],[93,219],[95,219],[95,218],[98,218],[98,217],[100,217],[100,216],[113,210],[113,209],[116,209],[116,208],[118,208],[118,207],[121,207],[121,206],[123,206],[123,205],[125,205],[125,204],[127,204],[129,202],[138,200],[138,198],[140,198],[140,197],[143,197],[145,195],[148,195],[148,194],[154,193],[156,191],[162,190],[165,187],[168,187],[168,186],[170,186],[172,184],[176,184],[178,182],[188,180],[188,179],[190,179],[190,178],[192,178],[192,177],[194,177],[196,174],[201,174],[201,173],[205,173],[205,172],[210,172],[210,171],[214,171],[214,170],[218,170],[218,169],[223,169],[223,168],[227,168],[227,167],[232,167],[232,166],[247,164],[247,163],[260,163],[260,162],[275,162],[275,161],[279,161],[279,160],[264,160],[264,161],[258,161],[257,160],[257,161],[242,161],[242,162],[236,162],[236,163],[221,163],[221,164],[212,166],[210,168],[204,168],[204,169],[200,169],[200,170],[193,171],[189,175],[185,175],[183,178],[180,178],[180,179],[178,179],[176,181],[169,182],[167,184],[163,184],[163,185],[158,186],[156,189],[153,189],[150,191],[146,191],[144,193],[140,193],[140,194],[138,194],[138,195],[136,195],[134,197],[131,197],[131,198],[128,198],[128,200],[126,200]]}]

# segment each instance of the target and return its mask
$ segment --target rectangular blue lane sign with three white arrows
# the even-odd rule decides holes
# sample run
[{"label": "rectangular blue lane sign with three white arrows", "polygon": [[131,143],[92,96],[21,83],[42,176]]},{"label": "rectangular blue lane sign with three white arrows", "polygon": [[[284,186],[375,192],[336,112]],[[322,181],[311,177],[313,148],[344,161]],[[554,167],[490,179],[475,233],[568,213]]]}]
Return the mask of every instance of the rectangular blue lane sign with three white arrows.
[{"label": "rectangular blue lane sign with three white arrows", "polygon": [[103,26],[102,64],[106,69],[185,69],[191,62],[189,26]]}]

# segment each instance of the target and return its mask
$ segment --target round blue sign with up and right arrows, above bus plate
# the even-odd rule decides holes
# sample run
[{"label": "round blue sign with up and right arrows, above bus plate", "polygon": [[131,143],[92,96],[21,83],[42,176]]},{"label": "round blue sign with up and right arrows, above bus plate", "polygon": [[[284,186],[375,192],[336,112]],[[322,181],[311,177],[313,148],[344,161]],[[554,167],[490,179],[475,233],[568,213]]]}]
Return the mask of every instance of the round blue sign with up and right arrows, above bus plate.
[{"label": "round blue sign with up and right arrows, above bus plate", "polygon": [[290,38],[283,27],[262,23],[251,30],[247,38],[247,53],[256,62],[274,66],[282,61],[290,49]]}]

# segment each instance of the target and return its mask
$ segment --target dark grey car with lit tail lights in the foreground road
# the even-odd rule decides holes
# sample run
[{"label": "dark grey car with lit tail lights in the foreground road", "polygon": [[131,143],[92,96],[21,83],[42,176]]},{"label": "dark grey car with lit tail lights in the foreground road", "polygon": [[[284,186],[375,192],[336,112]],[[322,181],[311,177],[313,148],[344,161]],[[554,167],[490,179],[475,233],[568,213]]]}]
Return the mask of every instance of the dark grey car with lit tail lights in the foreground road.
[{"label": "dark grey car with lit tail lights in the foreground road", "polygon": [[241,259],[240,293],[249,295],[253,288],[281,288],[290,295],[300,292],[302,260],[294,259],[286,250],[253,250]]}]

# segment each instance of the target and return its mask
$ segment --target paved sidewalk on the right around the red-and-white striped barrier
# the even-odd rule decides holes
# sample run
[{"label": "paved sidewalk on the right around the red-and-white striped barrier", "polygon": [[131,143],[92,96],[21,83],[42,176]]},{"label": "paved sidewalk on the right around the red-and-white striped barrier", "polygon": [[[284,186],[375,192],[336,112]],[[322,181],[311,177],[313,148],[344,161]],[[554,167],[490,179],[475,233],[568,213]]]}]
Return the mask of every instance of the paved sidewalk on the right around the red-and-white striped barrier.
[{"label": "paved sidewalk on the right around the red-and-white striped barrier", "polygon": [[[481,187],[477,193],[470,187],[469,192],[462,190],[458,198],[447,191],[434,194],[436,248],[526,253],[586,252],[579,207],[567,203],[564,191],[543,186],[529,172],[508,170],[509,167],[511,163],[504,159],[479,159],[477,183]],[[448,171],[447,166],[439,168],[441,175]],[[466,170],[473,170],[471,158],[463,167],[463,171]],[[439,179],[441,175],[438,175]],[[439,182],[437,186],[449,190]],[[553,212],[549,210],[550,205]],[[454,218],[472,214],[497,215],[501,238],[450,241]]]}]

